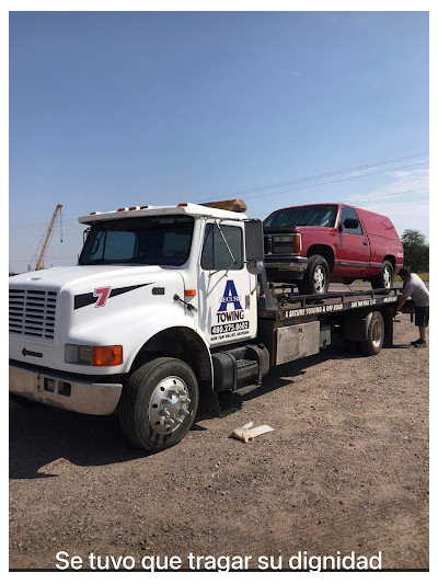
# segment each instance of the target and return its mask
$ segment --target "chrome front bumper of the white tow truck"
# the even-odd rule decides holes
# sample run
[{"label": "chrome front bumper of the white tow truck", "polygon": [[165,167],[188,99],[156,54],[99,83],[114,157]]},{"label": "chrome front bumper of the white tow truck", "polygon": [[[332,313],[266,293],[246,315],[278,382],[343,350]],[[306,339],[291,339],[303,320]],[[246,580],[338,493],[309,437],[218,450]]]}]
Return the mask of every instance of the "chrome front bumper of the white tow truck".
[{"label": "chrome front bumper of the white tow truck", "polygon": [[122,383],[93,383],[59,374],[9,366],[9,391],[62,410],[108,415],[117,408]]}]

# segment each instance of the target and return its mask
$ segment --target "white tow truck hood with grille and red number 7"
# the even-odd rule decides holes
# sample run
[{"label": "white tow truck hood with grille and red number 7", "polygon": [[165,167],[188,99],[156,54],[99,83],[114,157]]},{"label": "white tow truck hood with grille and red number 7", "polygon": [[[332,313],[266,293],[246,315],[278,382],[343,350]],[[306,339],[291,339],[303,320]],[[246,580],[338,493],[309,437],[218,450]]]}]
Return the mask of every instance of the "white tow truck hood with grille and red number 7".
[{"label": "white tow truck hood with grille and red number 7", "polygon": [[[44,355],[46,367],[90,373],[90,366],[65,362],[66,344],[127,347],[136,325],[147,340],[157,321],[192,323],[192,313],[175,300],[184,290],[180,270],[149,265],[55,267],[12,276],[10,358],[41,365]],[[101,369],[94,375],[106,373]]]}]

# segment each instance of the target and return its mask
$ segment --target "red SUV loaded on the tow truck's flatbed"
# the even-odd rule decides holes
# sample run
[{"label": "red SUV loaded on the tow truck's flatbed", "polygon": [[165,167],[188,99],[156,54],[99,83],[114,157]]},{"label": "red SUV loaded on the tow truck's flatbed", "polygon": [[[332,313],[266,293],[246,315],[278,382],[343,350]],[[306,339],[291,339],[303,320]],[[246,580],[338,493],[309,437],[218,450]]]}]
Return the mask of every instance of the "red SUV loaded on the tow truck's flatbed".
[{"label": "red SUV loaded on the tow truck's flatbed", "polygon": [[263,225],[269,279],[296,283],[301,294],[322,294],[330,282],[358,278],[390,288],[403,265],[397,232],[377,213],[341,204],[302,205],[275,210]]}]

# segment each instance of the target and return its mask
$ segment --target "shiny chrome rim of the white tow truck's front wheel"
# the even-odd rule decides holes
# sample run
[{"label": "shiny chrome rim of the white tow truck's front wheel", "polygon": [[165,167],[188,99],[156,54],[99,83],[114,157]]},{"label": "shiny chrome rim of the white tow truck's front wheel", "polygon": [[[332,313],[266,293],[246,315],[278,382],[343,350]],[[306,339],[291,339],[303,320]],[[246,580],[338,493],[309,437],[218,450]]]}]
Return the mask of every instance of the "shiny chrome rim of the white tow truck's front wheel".
[{"label": "shiny chrome rim of the white tow truck's front wheel", "polygon": [[162,379],[152,391],[149,422],[158,434],[172,434],[191,414],[188,388],[181,377]]}]

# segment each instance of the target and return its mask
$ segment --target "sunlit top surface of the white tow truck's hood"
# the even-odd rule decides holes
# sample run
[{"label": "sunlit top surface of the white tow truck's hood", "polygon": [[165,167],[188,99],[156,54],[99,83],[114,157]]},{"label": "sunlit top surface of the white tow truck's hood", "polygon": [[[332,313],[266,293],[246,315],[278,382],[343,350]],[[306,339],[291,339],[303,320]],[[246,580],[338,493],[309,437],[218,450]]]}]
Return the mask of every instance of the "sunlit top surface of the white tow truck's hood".
[{"label": "sunlit top surface of the white tow truck's hood", "polygon": [[9,284],[12,286],[26,286],[34,288],[60,289],[66,284],[79,284],[87,286],[103,282],[112,283],[119,279],[134,279],[146,276],[148,278],[161,278],[164,273],[173,272],[174,268],[163,270],[157,265],[76,265],[67,267],[51,267],[38,272],[27,272],[11,276]]}]

